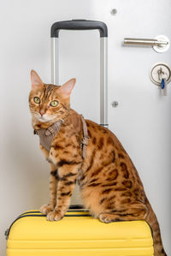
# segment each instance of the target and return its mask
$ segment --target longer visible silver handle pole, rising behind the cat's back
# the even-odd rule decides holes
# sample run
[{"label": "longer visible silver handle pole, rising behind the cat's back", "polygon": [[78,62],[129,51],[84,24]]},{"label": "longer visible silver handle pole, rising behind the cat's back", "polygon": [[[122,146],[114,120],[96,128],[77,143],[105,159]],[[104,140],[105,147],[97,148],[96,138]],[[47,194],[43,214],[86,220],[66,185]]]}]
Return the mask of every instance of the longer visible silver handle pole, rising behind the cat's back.
[{"label": "longer visible silver handle pole, rising behind the cat's back", "polygon": [[100,38],[100,124],[108,128],[108,38]]}]

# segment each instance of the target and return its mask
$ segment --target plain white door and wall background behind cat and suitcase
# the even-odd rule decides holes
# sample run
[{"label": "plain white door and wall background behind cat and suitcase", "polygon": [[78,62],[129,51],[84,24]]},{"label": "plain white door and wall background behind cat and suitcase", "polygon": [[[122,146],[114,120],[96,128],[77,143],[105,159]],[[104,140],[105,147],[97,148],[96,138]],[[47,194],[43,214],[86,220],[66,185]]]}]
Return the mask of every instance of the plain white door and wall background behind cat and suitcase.
[{"label": "plain white door and wall background behind cat and suitcase", "polygon": [[[171,50],[127,48],[124,37],[171,39],[170,1],[49,0],[3,1],[0,9],[0,255],[3,232],[22,211],[48,201],[49,167],[38,150],[28,109],[30,69],[50,82],[50,26],[55,21],[85,18],[109,27],[109,128],[139,170],[156,211],[162,240],[171,253],[170,166],[171,87],[161,97],[148,73],[156,62],[171,66]],[[110,15],[116,8],[117,15]],[[99,120],[99,45],[97,32],[60,33],[60,82],[77,78],[72,106]],[[114,109],[111,102],[117,100]],[[75,199],[76,201],[76,199]]]}]

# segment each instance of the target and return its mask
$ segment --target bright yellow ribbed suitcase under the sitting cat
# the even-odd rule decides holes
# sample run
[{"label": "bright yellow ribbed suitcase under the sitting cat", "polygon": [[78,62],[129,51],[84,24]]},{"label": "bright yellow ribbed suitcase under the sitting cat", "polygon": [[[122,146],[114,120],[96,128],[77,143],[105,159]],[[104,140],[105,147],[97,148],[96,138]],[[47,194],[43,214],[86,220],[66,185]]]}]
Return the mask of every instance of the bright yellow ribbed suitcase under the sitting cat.
[{"label": "bright yellow ribbed suitcase under the sitting cat", "polygon": [[154,255],[148,223],[101,223],[81,209],[68,210],[59,222],[47,221],[39,211],[26,211],[6,235],[7,256]]}]

